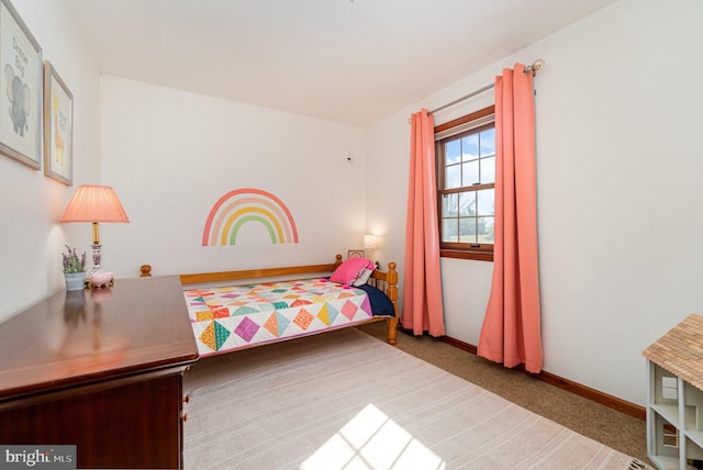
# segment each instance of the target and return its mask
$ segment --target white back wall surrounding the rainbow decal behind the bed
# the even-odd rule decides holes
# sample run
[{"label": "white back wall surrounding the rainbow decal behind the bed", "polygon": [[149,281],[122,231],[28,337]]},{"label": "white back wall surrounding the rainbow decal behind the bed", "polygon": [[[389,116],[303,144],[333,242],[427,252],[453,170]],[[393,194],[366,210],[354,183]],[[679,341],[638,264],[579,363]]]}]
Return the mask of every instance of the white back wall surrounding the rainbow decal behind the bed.
[{"label": "white back wall surrounding the rainbow decal behind the bed", "polygon": [[[131,220],[101,226],[116,277],[332,262],[361,247],[364,130],[110,76],[101,101],[102,181]],[[271,244],[250,223],[236,245],[203,247],[211,208],[241,188],[281,199],[300,242]]]}]

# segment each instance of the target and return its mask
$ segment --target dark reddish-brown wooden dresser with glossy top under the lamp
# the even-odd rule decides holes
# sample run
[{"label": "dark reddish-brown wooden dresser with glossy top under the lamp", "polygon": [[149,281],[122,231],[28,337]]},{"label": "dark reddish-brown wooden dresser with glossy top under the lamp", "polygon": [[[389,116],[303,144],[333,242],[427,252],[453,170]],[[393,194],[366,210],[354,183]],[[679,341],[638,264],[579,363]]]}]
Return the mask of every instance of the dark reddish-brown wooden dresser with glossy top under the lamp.
[{"label": "dark reddish-brown wooden dresser with glossy top under the lamp", "polygon": [[58,292],[0,323],[0,444],[76,445],[78,468],[182,468],[197,359],[177,276]]}]

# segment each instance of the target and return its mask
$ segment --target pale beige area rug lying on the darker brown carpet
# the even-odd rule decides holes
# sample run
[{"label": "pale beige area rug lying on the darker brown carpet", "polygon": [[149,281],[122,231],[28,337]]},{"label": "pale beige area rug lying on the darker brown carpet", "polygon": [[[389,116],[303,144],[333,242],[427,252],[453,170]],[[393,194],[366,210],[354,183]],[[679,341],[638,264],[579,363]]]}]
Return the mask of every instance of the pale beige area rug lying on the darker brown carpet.
[{"label": "pale beige area rug lying on the darker brown carpet", "polygon": [[186,469],[647,468],[354,328],[186,373]]}]

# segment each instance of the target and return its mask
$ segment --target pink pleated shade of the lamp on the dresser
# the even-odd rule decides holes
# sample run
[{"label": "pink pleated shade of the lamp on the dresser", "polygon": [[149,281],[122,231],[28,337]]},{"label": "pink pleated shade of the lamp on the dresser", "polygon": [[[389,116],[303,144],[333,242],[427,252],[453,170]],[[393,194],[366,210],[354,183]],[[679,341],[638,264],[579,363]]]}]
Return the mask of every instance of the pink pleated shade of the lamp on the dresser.
[{"label": "pink pleated shade of the lamp on the dresser", "polygon": [[130,222],[130,219],[112,188],[81,184],[59,222]]}]

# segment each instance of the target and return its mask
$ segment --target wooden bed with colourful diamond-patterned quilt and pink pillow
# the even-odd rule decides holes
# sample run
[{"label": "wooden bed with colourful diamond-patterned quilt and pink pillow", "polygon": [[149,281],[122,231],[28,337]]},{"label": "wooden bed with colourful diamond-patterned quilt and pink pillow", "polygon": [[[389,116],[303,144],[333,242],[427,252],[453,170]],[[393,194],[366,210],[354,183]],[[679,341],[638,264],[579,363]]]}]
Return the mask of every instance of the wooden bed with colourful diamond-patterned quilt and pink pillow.
[{"label": "wooden bed with colourful diamond-patterned quilt and pink pillow", "polygon": [[[368,260],[367,260],[368,261]],[[239,271],[181,275],[201,357],[372,322],[398,328],[398,271],[349,258]],[[142,276],[152,268],[142,266]],[[326,276],[325,276],[326,275]]]}]

